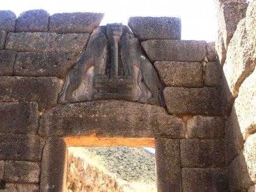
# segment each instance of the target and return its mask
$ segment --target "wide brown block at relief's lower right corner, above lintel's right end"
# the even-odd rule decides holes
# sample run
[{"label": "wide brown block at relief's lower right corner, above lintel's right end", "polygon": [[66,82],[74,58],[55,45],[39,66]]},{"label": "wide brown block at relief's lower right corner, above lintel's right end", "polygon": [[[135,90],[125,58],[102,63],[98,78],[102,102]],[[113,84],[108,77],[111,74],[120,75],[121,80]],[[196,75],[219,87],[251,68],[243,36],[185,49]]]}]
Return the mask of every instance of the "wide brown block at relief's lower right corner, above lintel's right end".
[{"label": "wide brown block at relief's lower right corner, above lintel's right end", "polygon": [[170,114],[221,115],[217,88],[166,87],[163,95]]}]

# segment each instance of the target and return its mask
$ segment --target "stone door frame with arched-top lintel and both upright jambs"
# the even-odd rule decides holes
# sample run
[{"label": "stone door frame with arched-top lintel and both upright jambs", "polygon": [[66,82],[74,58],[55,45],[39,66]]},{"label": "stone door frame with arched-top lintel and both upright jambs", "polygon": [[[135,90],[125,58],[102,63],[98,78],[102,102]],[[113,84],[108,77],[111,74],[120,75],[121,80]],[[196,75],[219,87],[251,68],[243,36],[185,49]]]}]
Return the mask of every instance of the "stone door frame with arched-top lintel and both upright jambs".
[{"label": "stone door frame with arched-top lintel and both upright jambs", "polygon": [[155,147],[158,191],[182,191],[182,119],[163,107],[118,100],[59,105],[40,119],[46,137],[40,191],[66,191],[67,147]]}]

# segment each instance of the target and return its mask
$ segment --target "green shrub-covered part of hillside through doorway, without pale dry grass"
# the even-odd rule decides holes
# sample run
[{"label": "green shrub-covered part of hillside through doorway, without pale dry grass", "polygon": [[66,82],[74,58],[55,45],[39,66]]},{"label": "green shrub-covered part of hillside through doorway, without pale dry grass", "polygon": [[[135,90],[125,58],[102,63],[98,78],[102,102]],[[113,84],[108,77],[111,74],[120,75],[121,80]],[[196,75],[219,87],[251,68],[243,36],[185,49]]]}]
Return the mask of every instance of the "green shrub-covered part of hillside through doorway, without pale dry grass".
[{"label": "green shrub-covered part of hillside through doorway, without pale dry grass", "polygon": [[156,183],[154,154],[143,147],[84,147],[83,151],[119,179]]}]

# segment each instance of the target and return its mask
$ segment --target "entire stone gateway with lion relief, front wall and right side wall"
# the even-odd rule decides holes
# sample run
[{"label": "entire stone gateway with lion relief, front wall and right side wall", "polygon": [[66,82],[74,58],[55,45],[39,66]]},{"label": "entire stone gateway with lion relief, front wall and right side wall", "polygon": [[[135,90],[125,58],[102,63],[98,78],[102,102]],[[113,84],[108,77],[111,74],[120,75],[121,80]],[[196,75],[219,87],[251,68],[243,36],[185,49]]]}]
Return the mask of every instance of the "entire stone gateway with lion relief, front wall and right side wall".
[{"label": "entire stone gateway with lion relief, front wall and right side wall", "polygon": [[0,11],[0,191],[66,191],[67,147],[155,147],[158,191],[255,191],[256,1],[179,18]]}]

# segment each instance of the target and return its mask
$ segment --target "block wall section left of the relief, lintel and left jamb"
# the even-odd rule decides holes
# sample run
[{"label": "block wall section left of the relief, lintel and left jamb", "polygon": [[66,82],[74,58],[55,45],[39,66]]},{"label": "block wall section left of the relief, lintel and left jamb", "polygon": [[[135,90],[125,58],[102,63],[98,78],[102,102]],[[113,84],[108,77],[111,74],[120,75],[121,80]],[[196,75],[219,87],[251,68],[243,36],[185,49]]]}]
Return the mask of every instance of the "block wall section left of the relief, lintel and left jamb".
[{"label": "block wall section left of the relief, lintel and left jamb", "polygon": [[[0,191],[39,189],[46,137],[40,116],[103,14],[0,11]],[[77,26],[76,26],[77,24]],[[60,173],[62,174],[62,173]]]}]

